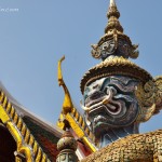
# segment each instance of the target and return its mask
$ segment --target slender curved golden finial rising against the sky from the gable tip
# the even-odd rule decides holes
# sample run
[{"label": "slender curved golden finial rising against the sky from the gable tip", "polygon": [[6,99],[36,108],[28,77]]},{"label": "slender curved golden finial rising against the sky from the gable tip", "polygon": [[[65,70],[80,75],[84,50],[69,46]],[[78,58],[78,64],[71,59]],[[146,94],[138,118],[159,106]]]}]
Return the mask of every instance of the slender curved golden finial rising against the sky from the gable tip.
[{"label": "slender curved golden finial rising against the sky from the gable tip", "polygon": [[58,85],[63,86],[64,92],[65,92],[65,97],[64,97],[64,103],[63,103],[63,113],[70,112],[73,108],[73,104],[70,97],[70,93],[63,80],[63,75],[62,75],[62,62],[65,59],[65,56],[63,56],[58,60]]}]

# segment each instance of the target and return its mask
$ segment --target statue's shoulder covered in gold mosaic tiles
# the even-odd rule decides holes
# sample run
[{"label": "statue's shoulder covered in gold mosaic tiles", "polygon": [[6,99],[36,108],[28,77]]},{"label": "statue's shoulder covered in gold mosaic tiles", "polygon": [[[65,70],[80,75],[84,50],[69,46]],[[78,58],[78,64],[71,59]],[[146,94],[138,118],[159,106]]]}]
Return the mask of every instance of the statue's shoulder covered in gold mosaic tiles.
[{"label": "statue's shoulder covered in gold mosaic tiles", "polygon": [[162,130],[129,135],[81,162],[162,162]]}]

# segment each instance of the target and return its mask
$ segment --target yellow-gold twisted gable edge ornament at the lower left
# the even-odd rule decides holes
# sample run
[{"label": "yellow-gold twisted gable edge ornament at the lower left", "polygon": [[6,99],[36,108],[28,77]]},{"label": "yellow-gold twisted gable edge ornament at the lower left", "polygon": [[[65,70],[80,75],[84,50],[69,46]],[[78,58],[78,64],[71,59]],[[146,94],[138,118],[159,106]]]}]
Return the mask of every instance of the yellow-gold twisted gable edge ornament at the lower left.
[{"label": "yellow-gold twisted gable edge ornament at the lower left", "polygon": [[0,91],[0,120],[16,141],[17,150],[14,152],[16,162],[23,160],[26,162],[50,162],[2,90]]}]

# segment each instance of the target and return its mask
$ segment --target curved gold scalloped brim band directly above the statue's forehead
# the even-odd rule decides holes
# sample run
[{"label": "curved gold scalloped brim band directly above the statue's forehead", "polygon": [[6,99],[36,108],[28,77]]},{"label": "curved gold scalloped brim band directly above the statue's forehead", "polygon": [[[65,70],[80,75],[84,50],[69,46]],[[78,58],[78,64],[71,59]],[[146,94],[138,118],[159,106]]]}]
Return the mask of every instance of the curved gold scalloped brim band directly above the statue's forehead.
[{"label": "curved gold scalloped brim band directly above the statue's forehead", "polygon": [[148,80],[152,80],[150,73],[138,67],[136,64],[123,57],[116,56],[105,59],[95,67],[91,68],[83,76],[80,85],[81,92],[83,93],[84,87],[93,81],[112,75],[133,77],[140,80],[143,83],[146,83]]}]

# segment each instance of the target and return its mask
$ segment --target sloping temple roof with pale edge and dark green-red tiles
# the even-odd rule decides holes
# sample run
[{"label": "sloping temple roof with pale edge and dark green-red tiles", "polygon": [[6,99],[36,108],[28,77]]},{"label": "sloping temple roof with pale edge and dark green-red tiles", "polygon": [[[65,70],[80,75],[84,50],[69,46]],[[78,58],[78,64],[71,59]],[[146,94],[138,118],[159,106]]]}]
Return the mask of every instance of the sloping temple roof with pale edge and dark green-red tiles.
[{"label": "sloping temple roof with pale edge and dark green-red tiles", "polygon": [[26,110],[24,106],[12,97],[1,82],[0,90],[8,96],[10,103],[13,105],[18,116],[22,117],[23,122],[27,125],[35,139],[46,153],[48,158],[51,161],[55,161],[56,156],[58,154],[56,144],[64,131]]}]

